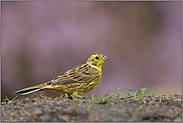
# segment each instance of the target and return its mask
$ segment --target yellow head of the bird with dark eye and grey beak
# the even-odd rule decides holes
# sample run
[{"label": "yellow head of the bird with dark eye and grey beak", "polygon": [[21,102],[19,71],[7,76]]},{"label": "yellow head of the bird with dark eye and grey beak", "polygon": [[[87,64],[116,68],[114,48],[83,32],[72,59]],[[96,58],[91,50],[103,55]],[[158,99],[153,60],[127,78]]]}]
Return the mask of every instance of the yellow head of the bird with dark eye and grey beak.
[{"label": "yellow head of the bird with dark eye and grey beak", "polygon": [[109,58],[107,56],[105,56],[104,54],[96,53],[96,54],[91,55],[88,58],[87,64],[95,66],[96,68],[101,69],[104,62],[108,59]]}]

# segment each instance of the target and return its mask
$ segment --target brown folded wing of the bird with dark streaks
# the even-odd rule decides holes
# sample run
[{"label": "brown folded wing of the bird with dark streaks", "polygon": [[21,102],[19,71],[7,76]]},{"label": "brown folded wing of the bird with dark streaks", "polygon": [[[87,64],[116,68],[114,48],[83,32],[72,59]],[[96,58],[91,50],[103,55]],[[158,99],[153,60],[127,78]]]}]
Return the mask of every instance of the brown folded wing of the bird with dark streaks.
[{"label": "brown folded wing of the bird with dark streaks", "polygon": [[90,83],[98,77],[96,68],[88,64],[78,65],[67,72],[57,76],[47,84],[66,84],[66,83]]}]

